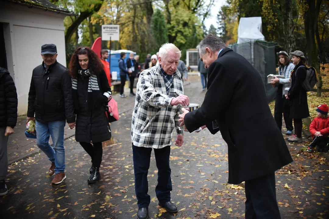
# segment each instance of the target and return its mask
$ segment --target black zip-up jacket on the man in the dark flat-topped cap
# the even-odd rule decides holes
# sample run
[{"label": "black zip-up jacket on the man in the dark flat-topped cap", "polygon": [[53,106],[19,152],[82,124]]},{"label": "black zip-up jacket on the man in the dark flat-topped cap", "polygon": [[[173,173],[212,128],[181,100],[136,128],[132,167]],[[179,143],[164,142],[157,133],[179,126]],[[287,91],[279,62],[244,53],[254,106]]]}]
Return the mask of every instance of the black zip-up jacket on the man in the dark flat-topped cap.
[{"label": "black zip-up jacket on the man in the dark flat-topped cap", "polygon": [[44,62],[33,69],[27,116],[40,122],[65,120],[75,122],[71,77],[57,61],[44,68]]}]

